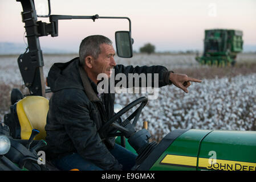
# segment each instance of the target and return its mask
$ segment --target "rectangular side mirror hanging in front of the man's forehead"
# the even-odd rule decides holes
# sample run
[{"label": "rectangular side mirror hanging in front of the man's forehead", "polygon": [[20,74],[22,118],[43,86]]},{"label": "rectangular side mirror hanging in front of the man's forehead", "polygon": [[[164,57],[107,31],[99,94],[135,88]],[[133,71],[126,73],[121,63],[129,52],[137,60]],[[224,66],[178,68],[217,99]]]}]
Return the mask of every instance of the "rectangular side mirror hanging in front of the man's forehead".
[{"label": "rectangular side mirror hanging in front of the man's forehead", "polygon": [[116,38],[116,52],[119,57],[132,57],[132,38],[129,31],[117,31]]}]

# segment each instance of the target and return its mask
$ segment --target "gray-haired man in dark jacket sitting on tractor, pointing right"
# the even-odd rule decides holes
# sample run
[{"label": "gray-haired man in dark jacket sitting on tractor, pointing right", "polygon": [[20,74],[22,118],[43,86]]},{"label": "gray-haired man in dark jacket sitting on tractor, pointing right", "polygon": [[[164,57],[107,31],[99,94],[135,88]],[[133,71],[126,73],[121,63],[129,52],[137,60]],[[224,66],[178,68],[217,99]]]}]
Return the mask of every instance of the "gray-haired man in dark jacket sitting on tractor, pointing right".
[{"label": "gray-haired man in dark jacket sitting on tractor, pointing right", "polygon": [[[173,73],[160,65],[133,67],[116,64],[112,41],[102,35],[82,40],[79,57],[55,63],[48,73],[52,90],[46,124],[47,158],[61,170],[130,170],[137,155],[115,144],[115,137],[102,139],[99,129],[114,115],[115,93],[99,93],[97,76],[123,73],[159,74],[159,87],[173,84],[188,93],[188,86],[201,82]],[[108,131],[116,130],[112,126]]]}]

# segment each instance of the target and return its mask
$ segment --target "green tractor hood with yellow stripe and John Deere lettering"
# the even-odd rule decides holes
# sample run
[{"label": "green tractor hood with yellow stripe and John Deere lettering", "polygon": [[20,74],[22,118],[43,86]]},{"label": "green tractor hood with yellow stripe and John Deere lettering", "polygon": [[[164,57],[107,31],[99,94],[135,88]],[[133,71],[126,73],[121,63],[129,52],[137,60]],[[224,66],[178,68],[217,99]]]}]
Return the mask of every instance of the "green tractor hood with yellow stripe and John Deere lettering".
[{"label": "green tractor hood with yellow stripe and John Deere lettering", "polygon": [[174,130],[139,170],[256,171],[256,131]]}]

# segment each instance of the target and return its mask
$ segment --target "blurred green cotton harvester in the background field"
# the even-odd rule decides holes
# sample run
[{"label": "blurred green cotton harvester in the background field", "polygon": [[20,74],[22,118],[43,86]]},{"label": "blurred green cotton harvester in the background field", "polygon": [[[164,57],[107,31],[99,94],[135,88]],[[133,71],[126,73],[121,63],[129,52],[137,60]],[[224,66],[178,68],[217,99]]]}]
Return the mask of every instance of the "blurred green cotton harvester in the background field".
[{"label": "blurred green cotton harvester in the background field", "polygon": [[242,35],[239,30],[205,30],[204,53],[196,60],[202,65],[234,66],[237,54],[243,50]]}]

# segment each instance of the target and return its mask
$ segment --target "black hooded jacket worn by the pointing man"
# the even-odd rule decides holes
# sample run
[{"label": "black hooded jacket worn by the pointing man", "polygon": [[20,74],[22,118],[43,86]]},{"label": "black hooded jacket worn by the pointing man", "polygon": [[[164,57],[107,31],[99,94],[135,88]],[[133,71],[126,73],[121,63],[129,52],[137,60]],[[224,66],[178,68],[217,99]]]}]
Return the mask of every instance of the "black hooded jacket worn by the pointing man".
[{"label": "black hooded jacket worn by the pointing man", "polygon": [[[125,67],[116,65],[117,73],[159,73],[159,87],[169,85],[168,70],[162,66]],[[97,97],[97,86],[79,65],[79,58],[52,65],[47,77],[53,92],[46,124],[48,159],[78,152],[105,170],[121,169],[109,152],[114,139],[101,140],[97,131],[114,114],[114,93]],[[109,130],[113,130],[110,128]]]}]

